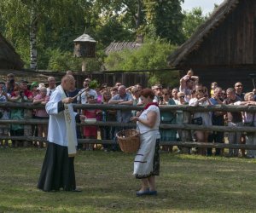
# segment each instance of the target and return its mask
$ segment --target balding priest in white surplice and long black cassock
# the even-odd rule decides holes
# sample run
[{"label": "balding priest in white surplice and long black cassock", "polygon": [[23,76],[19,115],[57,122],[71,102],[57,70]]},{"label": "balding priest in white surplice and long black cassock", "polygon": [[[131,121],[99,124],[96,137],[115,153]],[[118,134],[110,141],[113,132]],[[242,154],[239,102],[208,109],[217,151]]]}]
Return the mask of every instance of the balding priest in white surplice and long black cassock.
[{"label": "balding priest in white surplice and long black cassock", "polygon": [[45,107],[49,114],[49,143],[38,181],[38,188],[44,191],[58,191],[61,187],[65,191],[79,191],[73,165],[78,145],[76,120],[79,121],[79,114],[73,112],[73,98],[67,96],[74,83],[72,75],[64,76]]}]

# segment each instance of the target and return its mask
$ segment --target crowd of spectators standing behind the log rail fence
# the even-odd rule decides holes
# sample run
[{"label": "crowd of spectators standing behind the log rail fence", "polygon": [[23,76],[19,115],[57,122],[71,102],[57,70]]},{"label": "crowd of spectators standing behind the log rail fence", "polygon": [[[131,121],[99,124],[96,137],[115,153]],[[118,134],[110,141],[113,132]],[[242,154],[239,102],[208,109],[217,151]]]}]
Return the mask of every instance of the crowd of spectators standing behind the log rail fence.
[{"label": "crowd of spectators standing behind the log rail fence", "polygon": [[[72,75],[72,72],[67,72],[68,75]],[[90,88],[90,78],[85,78],[83,88],[73,88],[68,91],[69,97],[78,95],[73,99],[73,103],[78,104],[111,104],[111,105],[129,105],[129,106],[143,106],[141,100],[141,91],[143,89],[142,84],[128,86],[123,83],[115,83],[114,85],[107,85],[103,83],[99,88]],[[47,84],[47,85],[46,85]],[[15,75],[10,73],[7,75],[6,81],[0,82],[0,101],[12,101],[12,102],[32,102],[33,104],[46,105],[49,101],[50,95],[55,92],[56,83],[54,77],[48,78],[48,83],[33,82],[29,84],[25,79],[16,82]],[[189,105],[189,106],[207,106],[207,105],[256,105],[254,91],[243,93],[242,83],[237,82],[234,84],[234,88],[222,89],[218,86],[218,83],[213,82],[211,90],[208,91],[205,85],[202,85],[199,81],[199,77],[195,76],[192,70],[180,79],[179,88],[163,88],[161,84],[156,84],[151,88],[154,91],[154,103],[157,103],[159,107],[166,105]],[[82,92],[82,93],[81,93]],[[80,95],[79,95],[80,93]],[[117,121],[119,126],[102,126],[97,127],[95,125],[86,125],[83,127],[77,127],[76,133],[78,138],[85,139],[97,139],[101,137],[102,140],[116,140],[115,135],[120,130],[125,129],[125,123],[130,123],[131,118],[137,116],[137,111],[130,110],[97,110],[97,109],[85,109],[78,110],[79,114],[84,115],[85,118],[96,119],[97,121]],[[38,118],[49,119],[49,115],[43,108],[30,110],[22,108],[1,108],[1,119],[26,119],[26,118]],[[160,113],[160,124],[182,124],[183,112],[169,112],[162,111]],[[256,124],[256,118],[254,113],[249,112],[195,112],[191,118],[192,124],[204,124],[206,126],[211,125],[227,125],[227,126],[242,126]],[[45,124],[29,125],[29,124],[1,124],[0,135],[25,135],[25,136],[40,136],[47,137],[48,127]],[[256,144],[256,134],[241,134],[240,132],[228,133],[228,141],[230,144],[247,143]],[[202,131],[195,130],[191,133],[191,139],[198,142],[217,142],[224,143],[224,132],[218,131]],[[181,130],[160,130],[160,141],[180,141]],[[161,146],[163,152],[172,152],[172,144]],[[45,147],[42,142],[37,141],[12,141],[9,144],[8,140],[1,141],[1,147]],[[96,149],[94,144],[79,144],[81,150],[94,150]],[[117,143],[113,145],[103,144],[102,150],[105,152],[117,151],[119,147]],[[191,149],[178,147],[177,152],[191,153]],[[222,155],[222,149],[216,149],[212,152],[212,148],[197,148],[193,150],[201,155],[211,156]],[[256,158],[256,152],[248,150],[245,152],[241,150],[241,153],[237,149],[229,149],[228,155],[237,157],[239,155],[248,158]]]}]

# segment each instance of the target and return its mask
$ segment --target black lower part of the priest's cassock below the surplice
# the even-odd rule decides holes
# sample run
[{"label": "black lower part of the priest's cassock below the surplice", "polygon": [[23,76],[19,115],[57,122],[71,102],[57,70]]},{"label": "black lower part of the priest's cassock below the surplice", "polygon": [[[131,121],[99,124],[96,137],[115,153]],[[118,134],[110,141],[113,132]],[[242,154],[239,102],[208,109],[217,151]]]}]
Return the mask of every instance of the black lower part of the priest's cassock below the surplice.
[{"label": "black lower part of the priest's cassock below the surplice", "polygon": [[68,157],[67,147],[49,142],[38,188],[44,191],[58,191],[60,188],[65,191],[74,190],[76,181],[73,160],[74,158]]}]

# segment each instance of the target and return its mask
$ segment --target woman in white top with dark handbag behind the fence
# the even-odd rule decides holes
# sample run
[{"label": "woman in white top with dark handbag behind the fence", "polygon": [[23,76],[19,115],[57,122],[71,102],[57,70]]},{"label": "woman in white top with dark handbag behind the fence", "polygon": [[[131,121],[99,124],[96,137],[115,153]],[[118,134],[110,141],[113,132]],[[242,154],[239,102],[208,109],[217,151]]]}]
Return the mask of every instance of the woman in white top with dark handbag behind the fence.
[{"label": "woman in white top with dark handbag behind the fence", "polygon": [[[207,106],[212,105],[209,101],[208,96],[205,92],[197,90],[195,92],[195,98],[189,101],[189,106]],[[198,125],[212,125],[212,118],[210,112],[195,112],[192,118],[192,124]],[[207,142],[208,141],[208,131],[195,130],[195,139],[198,142]],[[206,155],[206,148],[198,148],[198,153],[201,155]]]}]

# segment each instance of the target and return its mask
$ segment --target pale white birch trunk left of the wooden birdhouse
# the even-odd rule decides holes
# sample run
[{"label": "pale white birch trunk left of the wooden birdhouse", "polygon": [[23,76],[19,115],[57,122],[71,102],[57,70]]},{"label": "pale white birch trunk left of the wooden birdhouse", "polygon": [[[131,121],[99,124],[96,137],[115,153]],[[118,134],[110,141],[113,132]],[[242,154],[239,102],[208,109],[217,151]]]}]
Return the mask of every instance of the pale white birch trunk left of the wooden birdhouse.
[{"label": "pale white birch trunk left of the wooden birdhouse", "polygon": [[38,32],[38,14],[37,1],[32,0],[31,22],[30,22],[30,68],[38,69],[38,49],[37,49],[37,32]]}]

